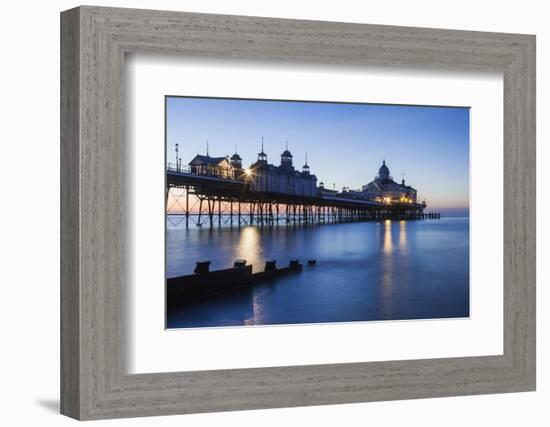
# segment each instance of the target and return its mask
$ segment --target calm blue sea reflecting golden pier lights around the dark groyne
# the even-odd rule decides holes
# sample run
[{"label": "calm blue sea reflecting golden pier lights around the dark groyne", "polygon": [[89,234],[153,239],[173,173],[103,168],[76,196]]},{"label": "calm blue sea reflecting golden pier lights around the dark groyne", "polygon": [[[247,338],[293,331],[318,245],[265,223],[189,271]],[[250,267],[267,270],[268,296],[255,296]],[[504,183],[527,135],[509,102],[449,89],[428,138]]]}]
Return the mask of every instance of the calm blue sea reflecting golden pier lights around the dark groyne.
[{"label": "calm blue sea reflecting golden pier lights around the dark groyne", "polygon": [[167,313],[168,328],[469,316],[467,218],[308,227],[167,229],[168,277],[246,259],[266,259],[302,273]]}]

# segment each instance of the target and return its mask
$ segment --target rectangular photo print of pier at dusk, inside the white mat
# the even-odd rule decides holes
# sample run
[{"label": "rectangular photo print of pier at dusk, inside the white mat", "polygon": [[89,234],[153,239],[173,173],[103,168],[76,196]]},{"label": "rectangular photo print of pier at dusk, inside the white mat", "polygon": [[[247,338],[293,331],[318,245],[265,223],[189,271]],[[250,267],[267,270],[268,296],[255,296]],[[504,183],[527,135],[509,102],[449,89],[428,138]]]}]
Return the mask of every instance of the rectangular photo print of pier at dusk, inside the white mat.
[{"label": "rectangular photo print of pier at dusk, inside the white mat", "polygon": [[469,116],[166,96],[166,327],[469,317]]}]

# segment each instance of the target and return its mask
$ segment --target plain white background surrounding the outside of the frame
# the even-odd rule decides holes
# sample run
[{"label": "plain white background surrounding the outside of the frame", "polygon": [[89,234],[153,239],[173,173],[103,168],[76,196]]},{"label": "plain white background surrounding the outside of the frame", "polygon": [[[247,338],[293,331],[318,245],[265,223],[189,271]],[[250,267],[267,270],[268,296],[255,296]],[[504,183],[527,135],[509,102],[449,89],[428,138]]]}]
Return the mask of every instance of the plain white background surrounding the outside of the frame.
[{"label": "plain white background surrounding the outside of the frame", "polygon": [[[108,421],[188,426],[545,426],[550,422],[550,27],[545,2],[339,0],[96,1],[97,5],[504,31],[537,35],[538,391]],[[59,405],[59,12],[74,1],[5,2],[0,25],[0,422],[68,425]],[[546,162],[545,162],[546,161]]]}]

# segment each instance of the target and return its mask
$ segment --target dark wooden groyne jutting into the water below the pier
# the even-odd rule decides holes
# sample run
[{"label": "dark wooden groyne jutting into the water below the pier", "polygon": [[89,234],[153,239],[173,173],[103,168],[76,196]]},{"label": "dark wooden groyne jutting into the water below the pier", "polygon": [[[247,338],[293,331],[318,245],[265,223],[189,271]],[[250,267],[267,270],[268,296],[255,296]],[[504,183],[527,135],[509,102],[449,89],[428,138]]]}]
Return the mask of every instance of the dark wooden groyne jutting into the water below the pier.
[{"label": "dark wooden groyne jutting into the water below the pier", "polygon": [[266,261],[264,271],[252,273],[252,265],[246,265],[245,260],[237,260],[232,268],[210,271],[210,261],[200,261],[196,264],[194,274],[166,280],[166,304],[168,308],[183,306],[289,273],[298,273],[302,269],[299,260],[291,260],[288,266],[282,268],[277,268],[275,260],[269,260]]}]

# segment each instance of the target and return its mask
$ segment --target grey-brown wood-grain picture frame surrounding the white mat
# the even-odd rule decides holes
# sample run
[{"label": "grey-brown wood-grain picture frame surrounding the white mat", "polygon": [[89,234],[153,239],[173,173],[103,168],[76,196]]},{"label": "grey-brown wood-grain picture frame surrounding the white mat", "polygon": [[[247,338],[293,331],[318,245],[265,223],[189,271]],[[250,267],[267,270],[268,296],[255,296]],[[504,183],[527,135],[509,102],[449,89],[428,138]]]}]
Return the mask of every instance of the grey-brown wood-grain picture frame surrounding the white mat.
[{"label": "grey-brown wood-grain picture frame surrounding the white mat", "polygon": [[[504,353],[127,374],[128,53],[502,72]],[[61,14],[65,415],[86,420],[534,390],[535,246],[532,35],[89,6]]]}]

